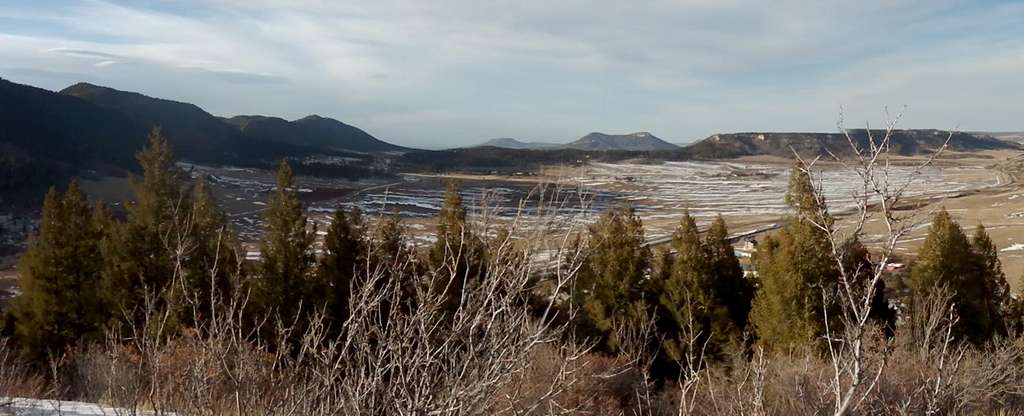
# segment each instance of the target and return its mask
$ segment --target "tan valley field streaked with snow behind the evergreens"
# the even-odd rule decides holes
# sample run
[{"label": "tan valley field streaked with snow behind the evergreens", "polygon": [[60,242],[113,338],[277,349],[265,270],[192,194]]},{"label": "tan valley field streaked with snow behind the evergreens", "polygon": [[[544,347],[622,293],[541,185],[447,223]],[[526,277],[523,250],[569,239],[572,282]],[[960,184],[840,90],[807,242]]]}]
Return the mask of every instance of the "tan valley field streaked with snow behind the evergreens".
[{"label": "tan valley field streaked with snow behind the evergreens", "polygon": [[[970,233],[984,223],[1000,249],[1008,277],[1014,285],[1024,274],[1024,190],[1016,179],[1024,171],[1009,152],[950,155],[916,177],[909,195],[927,214],[945,206]],[[907,180],[920,158],[894,160],[891,179]],[[273,189],[273,173],[260,169],[212,168],[183,165],[193,176],[206,176],[248,250],[256,249],[262,228],[262,210]],[[786,210],[783,202],[791,162],[772,157],[715,162],[592,163],[586,167],[553,166],[529,176],[402,174],[398,179],[359,181],[299,176],[300,197],[310,217],[323,230],[330,212],[358,208],[371,219],[382,214],[403,217],[418,244],[433,241],[433,216],[440,208],[445,181],[458,180],[471,213],[486,210],[496,221],[520,214],[530,216],[544,208],[562,219],[584,223],[617,205],[633,206],[643,218],[648,241],[663,244],[671,236],[684,209],[698,225],[714,215],[726,217],[734,233],[763,230],[777,223]],[[835,212],[851,209],[856,177],[835,163],[821,163],[823,186]],[[111,178],[83,181],[97,199],[115,206],[130,197],[129,181]],[[881,224],[868,223],[868,237],[878,237]],[[558,230],[552,230],[553,233]],[[927,218],[898,248],[912,255],[927,233]],[[871,243],[871,241],[868,241]]]}]

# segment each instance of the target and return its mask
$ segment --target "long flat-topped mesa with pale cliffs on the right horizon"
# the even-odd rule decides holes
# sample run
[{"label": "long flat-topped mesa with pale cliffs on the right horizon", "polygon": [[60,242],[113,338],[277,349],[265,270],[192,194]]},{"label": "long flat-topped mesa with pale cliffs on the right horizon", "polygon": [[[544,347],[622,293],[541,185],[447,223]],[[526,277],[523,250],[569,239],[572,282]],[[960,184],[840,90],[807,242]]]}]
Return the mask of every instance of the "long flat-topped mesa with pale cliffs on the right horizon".
[{"label": "long flat-topped mesa with pale cliffs on the right horizon", "polygon": [[[849,130],[851,138],[861,149],[868,147],[867,131]],[[884,131],[871,130],[876,137]],[[912,156],[934,152],[945,141],[948,132],[934,129],[896,130],[890,139],[892,150],[898,155]],[[986,150],[1017,150],[1017,143],[973,133],[956,132],[949,140],[949,150],[974,152]],[[802,156],[825,155],[829,150],[837,154],[850,154],[850,144],[842,133],[727,133],[715,134],[684,148],[697,158],[733,158],[740,156],[770,155],[792,158],[796,151]]]}]

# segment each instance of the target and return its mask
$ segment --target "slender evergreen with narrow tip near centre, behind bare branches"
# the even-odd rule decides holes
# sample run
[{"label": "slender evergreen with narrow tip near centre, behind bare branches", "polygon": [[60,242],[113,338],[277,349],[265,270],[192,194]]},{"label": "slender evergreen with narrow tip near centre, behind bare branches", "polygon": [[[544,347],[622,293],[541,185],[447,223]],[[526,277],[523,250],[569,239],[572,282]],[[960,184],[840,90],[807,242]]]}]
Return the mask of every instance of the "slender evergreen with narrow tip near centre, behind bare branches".
[{"label": "slender evergreen with narrow tip near centre, behind bare branches", "polygon": [[486,273],[485,254],[485,244],[466,224],[466,208],[458,184],[449,181],[437,215],[437,241],[428,253],[435,276],[433,290],[443,294],[443,308],[449,315],[461,307],[463,292]]}]

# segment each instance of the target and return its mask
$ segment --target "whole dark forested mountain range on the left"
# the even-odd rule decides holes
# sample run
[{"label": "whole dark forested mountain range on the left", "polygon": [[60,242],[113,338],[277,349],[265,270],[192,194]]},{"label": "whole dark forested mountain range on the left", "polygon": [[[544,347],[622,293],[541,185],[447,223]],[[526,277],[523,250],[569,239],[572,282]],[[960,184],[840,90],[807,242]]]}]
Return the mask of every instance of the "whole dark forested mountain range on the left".
[{"label": "whole dark forested mountain range on the left", "polygon": [[337,120],[262,116],[223,119],[187,102],[78,83],[59,92],[0,79],[0,191],[49,186],[83,169],[126,170],[148,131],[160,127],[183,160],[270,167],[282,158],[354,158],[357,167],[297,169],[366,174],[367,153],[401,152]]}]

